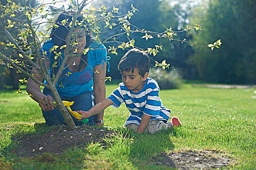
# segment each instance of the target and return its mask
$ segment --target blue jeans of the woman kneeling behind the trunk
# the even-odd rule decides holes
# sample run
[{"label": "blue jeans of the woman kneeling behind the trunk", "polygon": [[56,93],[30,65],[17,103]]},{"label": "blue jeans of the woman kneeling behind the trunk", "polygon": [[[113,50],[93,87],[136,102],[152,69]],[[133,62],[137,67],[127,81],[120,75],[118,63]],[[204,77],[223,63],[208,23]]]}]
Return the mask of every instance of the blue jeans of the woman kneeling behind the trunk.
[{"label": "blue jeans of the woman kneeling behind the trunk", "polygon": [[[43,94],[50,95],[53,97],[52,93],[48,89],[43,89]],[[94,106],[94,93],[93,91],[85,92],[79,96],[76,97],[65,97],[59,95],[62,101],[68,101],[68,102],[73,102],[74,104],[70,106],[71,110],[76,111],[76,110],[83,110],[83,111],[88,111],[90,108]],[[57,108],[54,108],[52,111],[43,111],[42,110],[43,117],[46,121],[46,124],[48,126],[52,125],[58,125],[58,124],[65,124],[64,118],[62,114],[59,112]],[[71,114],[70,114],[71,115]],[[79,121],[78,119],[74,118],[73,115],[71,115],[72,119],[74,120],[76,126],[85,124],[82,121]],[[89,121],[86,123],[87,125],[96,125],[95,120],[96,120],[96,115],[91,116],[88,118]]]}]

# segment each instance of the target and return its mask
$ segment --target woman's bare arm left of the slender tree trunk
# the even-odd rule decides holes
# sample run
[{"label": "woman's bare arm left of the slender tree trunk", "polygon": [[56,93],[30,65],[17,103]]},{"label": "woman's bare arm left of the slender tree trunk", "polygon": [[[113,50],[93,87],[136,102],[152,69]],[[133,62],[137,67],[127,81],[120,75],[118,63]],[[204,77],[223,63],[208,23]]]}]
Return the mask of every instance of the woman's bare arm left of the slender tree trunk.
[{"label": "woman's bare arm left of the slender tree trunk", "polygon": [[[37,63],[38,64],[38,63]],[[50,63],[46,63],[47,66],[50,65]],[[49,66],[48,66],[49,67]],[[39,81],[43,81],[42,75],[37,73],[38,70],[36,68],[33,68],[33,73],[36,79]],[[28,79],[27,85],[26,85],[26,91],[29,94],[32,94],[32,99],[39,103],[39,106],[44,111],[51,111],[54,109],[53,105],[50,104],[54,101],[54,99],[51,96],[44,95],[40,90],[40,85],[34,82],[32,79]]]}]

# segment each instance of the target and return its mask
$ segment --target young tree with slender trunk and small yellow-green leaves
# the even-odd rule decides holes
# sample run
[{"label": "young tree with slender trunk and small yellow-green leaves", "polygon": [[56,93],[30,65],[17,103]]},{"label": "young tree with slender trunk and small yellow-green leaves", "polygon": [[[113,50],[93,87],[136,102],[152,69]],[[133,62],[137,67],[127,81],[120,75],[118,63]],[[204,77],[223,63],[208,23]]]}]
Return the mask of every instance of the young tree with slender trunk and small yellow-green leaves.
[{"label": "young tree with slender trunk and small yellow-green leaves", "polygon": [[[53,1],[55,3],[56,1]],[[9,39],[9,43],[6,44],[5,49],[12,49],[13,53],[17,53],[18,55],[6,55],[3,51],[0,51],[0,62],[3,65],[6,65],[10,68],[16,68],[26,76],[28,76],[30,79],[32,79],[34,82],[38,83],[39,85],[42,85],[44,87],[47,87],[51,90],[54,99],[56,100],[59,110],[61,114],[64,117],[64,121],[66,122],[69,129],[75,126],[75,123],[73,119],[71,118],[69,112],[65,108],[64,104],[62,103],[58,91],[56,89],[56,84],[59,81],[60,75],[62,71],[67,68],[66,62],[67,60],[78,54],[74,54],[73,51],[77,51],[77,42],[75,40],[75,36],[77,36],[77,32],[75,32],[75,28],[85,28],[84,31],[88,31],[90,29],[90,33],[86,32],[86,34],[90,34],[94,37],[94,39],[98,42],[100,42],[100,35],[101,34],[109,34],[109,36],[106,39],[101,39],[101,43],[103,44],[113,44],[112,46],[108,46],[108,52],[117,54],[117,49],[128,49],[128,48],[134,48],[135,40],[132,38],[129,38],[130,34],[141,34],[141,38],[144,38],[146,41],[151,38],[167,38],[170,41],[177,40],[180,42],[186,42],[185,40],[178,40],[175,39],[175,35],[178,33],[172,31],[172,28],[168,28],[165,31],[161,33],[157,32],[151,32],[144,29],[140,29],[135,25],[132,25],[129,22],[129,19],[134,15],[136,11],[138,11],[133,4],[131,4],[131,10],[128,11],[127,14],[118,16],[118,8],[115,7],[115,1],[113,6],[108,9],[104,5],[101,5],[98,8],[94,7],[88,7],[89,2],[87,0],[82,0],[81,2],[76,0],[70,0],[70,8],[73,11],[76,11],[75,16],[72,18],[72,22],[70,22],[69,27],[70,33],[67,38],[67,45],[63,45],[61,47],[54,46],[51,51],[55,54],[55,59],[58,59],[58,57],[61,57],[61,52],[57,52],[57,48],[65,48],[66,54],[65,57],[62,60],[61,65],[59,66],[59,69],[56,74],[50,74],[49,68],[45,64],[46,61],[46,55],[45,52],[42,49],[42,44],[49,38],[49,31],[53,27],[58,27],[58,25],[54,24],[53,21],[47,21],[50,26],[48,29],[46,29],[45,32],[38,31],[40,25],[45,22],[41,21],[40,18],[45,18],[47,15],[52,13],[52,10],[48,10],[46,8],[45,4],[41,4],[38,7],[31,7],[31,6],[20,6],[19,4],[16,4],[15,2],[8,0],[8,3],[6,5],[0,5],[1,10],[3,11],[0,16],[0,26],[1,29],[5,32],[6,36]],[[16,17],[17,12],[22,12],[25,18],[19,18]],[[64,10],[60,10],[63,12]],[[96,16],[94,13],[99,12],[100,15]],[[77,21],[77,17],[79,15],[83,15],[84,19],[80,22]],[[63,25],[65,25],[66,21],[63,20]],[[7,23],[5,25],[4,23]],[[104,23],[104,27],[108,27],[109,30],[106,32],[101,32],[101,28],[98,27],[98,23]],[[199,30],[200,25],[196,25],[193,28],[187,28],[183,32],[189,31],[189,30]],[[13,36],[10,34],[11,30],[17,30],[19,31],[18,36]],[[118,32],[116,32],[118,30]],[[111,31],[114,31],[113,34],[110,34]],[[124,36],[125,38],[120,38]],[[18,39],[21,40],[20,43],[18,43]],[[192,43],[190,43],[192,44]],[[218,47],[220,45],[220,41],[216,42],[211,47]],[[204,46],[205,47],[205,46]],[[207,47],[207,46],[206,46]],[[159,50],[162,49],[162,46],[155,45],[154,47],[147,48],[144,50],[144,52],[153,54],[154,56],[159,52]],[[89,48],[84,49],[82,53],[87,53]],[[52,68],[56,67],[56,62],[53,63],[51,66]],[[169,64],[165,63],[163,61],[162,63],[156,62],[156,66],[160,66],[162,68],[169,67]],[[34,74],[37,73],[41,75],[47,82],[43,83],[35,78]],[[97,71],[96,71],[97,73]],[[67,74],[70,74],[69,72]],[[106,78],[108,80],[110,78]],[[23,82],[26,82],[24,79]],[[22,93],[22,92],[20,92]],[[35,98],[36,96],[34,94],[29,94],[32,98]],[[52,103],[49,103],[52,104]]]}]

